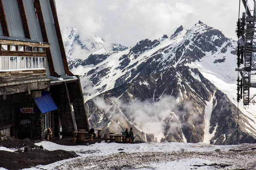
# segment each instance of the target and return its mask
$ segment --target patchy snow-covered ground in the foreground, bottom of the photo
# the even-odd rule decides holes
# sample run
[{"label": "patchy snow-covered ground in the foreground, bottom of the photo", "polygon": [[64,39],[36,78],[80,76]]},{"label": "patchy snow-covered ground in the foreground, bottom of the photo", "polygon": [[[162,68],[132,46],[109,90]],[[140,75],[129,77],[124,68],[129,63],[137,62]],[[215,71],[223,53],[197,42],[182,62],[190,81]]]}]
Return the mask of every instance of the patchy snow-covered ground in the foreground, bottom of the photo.
[{"label": "patchy snow-covered ground in the foreground, bottom of the photo", "polygon": [[[255,144],[212,146],[202,142],[184,143],[96,143],[64,146],[48,141],[36,143],[47,150],[68,150],[79,157],[26,170],[219,170],[255,169]],[[0,168],[1,169],[1,168]]]}]

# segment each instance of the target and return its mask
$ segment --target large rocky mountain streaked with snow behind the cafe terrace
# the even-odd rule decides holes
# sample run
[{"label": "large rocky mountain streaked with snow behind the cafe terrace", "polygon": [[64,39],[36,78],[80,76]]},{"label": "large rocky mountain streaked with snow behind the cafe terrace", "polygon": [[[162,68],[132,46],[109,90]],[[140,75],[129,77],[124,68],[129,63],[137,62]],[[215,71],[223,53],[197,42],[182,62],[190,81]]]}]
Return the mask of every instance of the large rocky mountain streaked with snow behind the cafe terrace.
[{"label": "large rocky mountain streaked with snow behind the cafe terrace", "polygon": [[84,59],[67,54],[93,127],[134,127],[146,142],[236,144],[239,114],[239,142],[254,143],[254,105],[239,111],[235,105],[236,46],[199,21],[123,51],[101,48]]}]

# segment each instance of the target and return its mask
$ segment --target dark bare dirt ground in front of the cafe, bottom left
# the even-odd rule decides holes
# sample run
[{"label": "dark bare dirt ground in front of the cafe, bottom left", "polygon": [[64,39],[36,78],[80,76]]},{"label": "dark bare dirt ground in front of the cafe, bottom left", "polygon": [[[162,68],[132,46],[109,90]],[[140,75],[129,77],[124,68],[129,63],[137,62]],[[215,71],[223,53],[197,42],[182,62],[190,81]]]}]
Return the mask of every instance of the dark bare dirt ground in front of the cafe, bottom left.
[{"label": "dark bare dirt ground in front of the cafe, bottom left", "polygon": [[[73,143],[72,138],[63,138],[63,139],[52,139],[50,142],[54,142],[56,144],[61,145],[89,145],[94,144],[96,142],[102,142],[104,139],[94,139],[93,142],[76,142]],[[38,147],[34,143],[40,142],[30,141],[30,140],[21,140],[15,139],[13,137],[7,137],[6,140],[0,141],[0,146],[7,148],[15,148],[17,151],[8,152],[0,150],[0,167],[6,168],[8,170],[20,170],[23,168],[35,167],[37,165],[46,165],[51,164],[56,161],[60,161],[63,159],[69,159],[78,157],[75,152],[69,152],[65,150],[54,150],[49,151],[45,150],[41,147]],[[113,142],[113,141],[108,141]],[[136,141],[134,143],[141,143],[140,141]],[[29,151],[24,151],[24,147],[28,146]],[[10,162],[12,162],[10,164]]]}]

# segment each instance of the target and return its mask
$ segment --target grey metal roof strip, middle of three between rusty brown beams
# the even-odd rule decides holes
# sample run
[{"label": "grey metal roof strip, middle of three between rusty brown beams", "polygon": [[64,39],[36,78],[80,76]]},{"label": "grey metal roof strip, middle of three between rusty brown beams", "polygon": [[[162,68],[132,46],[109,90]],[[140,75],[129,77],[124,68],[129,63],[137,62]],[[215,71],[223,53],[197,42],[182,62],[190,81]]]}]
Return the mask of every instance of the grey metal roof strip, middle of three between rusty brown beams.
[{"label": "grey metal roof strip, middle of three between rusty brown beams", "polygon": [[41,33],[41,27],[39,20],[37,20],[35,14],[35,7],[33,0],[23,0],[26,18],[28,20],[29,32],[32,40],[43,42],[43,37]]}]

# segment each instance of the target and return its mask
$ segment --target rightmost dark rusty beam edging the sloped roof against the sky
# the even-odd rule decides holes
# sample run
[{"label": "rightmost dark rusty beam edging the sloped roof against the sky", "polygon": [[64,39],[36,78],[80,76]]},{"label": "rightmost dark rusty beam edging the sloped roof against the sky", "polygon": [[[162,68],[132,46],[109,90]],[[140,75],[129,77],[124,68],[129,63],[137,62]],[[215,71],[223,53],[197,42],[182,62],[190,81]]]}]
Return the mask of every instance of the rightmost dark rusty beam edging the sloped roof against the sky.
[{"label": "rightmost dark rusty beam edging the sloped roof against the sky", "polygon": [[63,40],[62,40],[62,36],[61,36],[61,29],[60,29],[60,25],[59,25],[59,22],[58,22],[58,16],[57,16],[57,11],[56,11],[56,8],[55,8],[55,4],[54,4],[53,0],[49,0],[49,2],[50,2],[51,10],[52,10],[53,20],[54,20],[54,23],[55,23],[54,26],[55,26],[55,30],[56,30],[56,33],[57,33],[58,44],[59,44],[60,51],[61,51],[61,58],[62,58],[62,62],[63,62],[63,65],[64,65],[64,70],[65,70],[65,73],[67,75],[73,76],[74,74],[71,73],[71,71],[68,68],[67,56],[66,56],[66,53],[65,53],[65,48],[64,48],[64,44],[63,44]]}]

